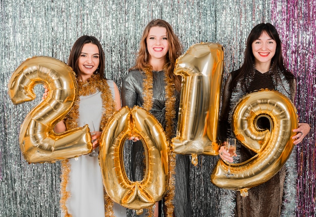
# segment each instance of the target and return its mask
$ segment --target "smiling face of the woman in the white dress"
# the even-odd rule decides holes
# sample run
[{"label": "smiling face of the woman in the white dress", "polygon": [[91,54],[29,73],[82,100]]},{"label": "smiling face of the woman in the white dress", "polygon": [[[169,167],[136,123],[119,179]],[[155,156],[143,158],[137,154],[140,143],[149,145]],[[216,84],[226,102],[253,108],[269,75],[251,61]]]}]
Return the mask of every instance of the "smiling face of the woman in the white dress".
[{"label": "smiling face of the woman in the white dress", "polygon": [[80,78],[86,81],[97,69],[100,62],[100,54],[97,45],[92,43],[84,44],[78,58]]}]

